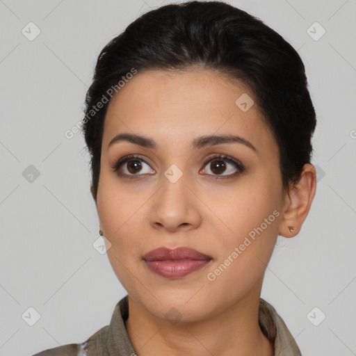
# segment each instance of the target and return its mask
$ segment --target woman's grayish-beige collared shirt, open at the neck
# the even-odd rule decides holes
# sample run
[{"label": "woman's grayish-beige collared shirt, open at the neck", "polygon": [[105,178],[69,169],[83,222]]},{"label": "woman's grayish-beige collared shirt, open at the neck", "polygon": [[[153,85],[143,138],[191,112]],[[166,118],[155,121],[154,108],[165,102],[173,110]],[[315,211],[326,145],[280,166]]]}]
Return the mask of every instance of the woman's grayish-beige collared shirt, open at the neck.
[{"label": "woman's grayish-beige collared shirt, open at the neck", "polygon": [[[33,356],[135,356],[124,324],[128,316],[128,297],[125,296],[115,306],[110,325],[102,327],[85,342],[51,348]],[[259,302],[259,325],[266,337],[273,341],[275,356],[301,356],[286,324],[263,299]]]}]

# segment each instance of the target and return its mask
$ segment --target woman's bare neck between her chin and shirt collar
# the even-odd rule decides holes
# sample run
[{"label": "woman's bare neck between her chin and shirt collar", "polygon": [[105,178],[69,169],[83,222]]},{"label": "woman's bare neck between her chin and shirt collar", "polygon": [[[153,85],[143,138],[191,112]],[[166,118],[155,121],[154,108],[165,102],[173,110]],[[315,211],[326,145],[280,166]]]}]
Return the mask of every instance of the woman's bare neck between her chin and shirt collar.
[{"label": "woman's bare neck between her chin and shirt collar", "polygon": [[173,325],[129,297],[126,327],[138,356],[273,356],[273,344],[259,327],[258,311],[259,293],[215,316]]}]

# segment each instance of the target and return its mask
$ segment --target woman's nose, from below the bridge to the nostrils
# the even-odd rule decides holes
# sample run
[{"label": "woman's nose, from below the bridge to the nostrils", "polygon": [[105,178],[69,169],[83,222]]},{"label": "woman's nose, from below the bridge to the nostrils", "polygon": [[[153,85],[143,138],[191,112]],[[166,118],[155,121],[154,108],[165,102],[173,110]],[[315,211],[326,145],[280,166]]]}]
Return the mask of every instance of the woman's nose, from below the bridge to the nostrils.
[{"label": "woman's nose, from below the bridge to the nostrils", "polygon": [[152,200],[151,225],[169,232],[196,229],[202,223],[197,197],[183,175],[172,183],[162,177],[162,186]]}]

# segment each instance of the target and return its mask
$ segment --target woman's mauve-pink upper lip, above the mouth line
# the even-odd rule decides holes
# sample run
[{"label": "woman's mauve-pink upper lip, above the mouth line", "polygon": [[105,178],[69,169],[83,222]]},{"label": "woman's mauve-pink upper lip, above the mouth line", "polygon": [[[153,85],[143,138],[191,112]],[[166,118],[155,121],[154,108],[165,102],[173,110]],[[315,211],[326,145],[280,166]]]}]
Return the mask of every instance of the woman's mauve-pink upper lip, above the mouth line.
[{"label": "woman's mauve-pink upper lip, above the mouth line", "polygon": [[145,261],[177,261],[181,259],[212,259],[212,257],[191,248],[182,247],[169,249],[162,247],[147,252],[143,256],[143,259],[145,259]]}]

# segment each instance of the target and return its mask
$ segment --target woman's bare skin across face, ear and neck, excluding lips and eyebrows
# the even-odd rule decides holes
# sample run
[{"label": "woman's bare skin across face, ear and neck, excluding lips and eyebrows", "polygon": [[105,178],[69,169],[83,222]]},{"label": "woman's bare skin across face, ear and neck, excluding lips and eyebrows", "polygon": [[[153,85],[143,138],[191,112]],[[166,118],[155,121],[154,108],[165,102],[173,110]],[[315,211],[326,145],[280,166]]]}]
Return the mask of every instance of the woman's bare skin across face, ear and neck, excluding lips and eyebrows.
[{"label": "woman's bare skin across face, ear and neck, excluding lips and eyebrows", "polygon": [[[243,83],[212,70],[149,70],[133,76],[109,103],[94,198],[108,258],[129,295],[126,327],[139,356],[273,355],[257,318],[262,281],[277,235],[300,231],[316,173],[305,165],[298,184],[284,191],[275,138],[256,100],[247,112],[236,106],[243,93],[254,97]],[[118,133],[147,136],[157,147],[126,141],[108,147]],[[211,134],[240,136],[256,150],[241,143],[191,149],[193,139]],[[148,164],[140,161],[141,170],[129,171],[124,163],[115,172],[115,162],[128,154],[140,154]],[[245,171],[228,177],[238,169],[223,159],[226,170],[216,173],[214,162],[204,165],[213,154],[241,161]],[[164,175],[172,164],[183,174],[175,183]],[[208,280],[273,211],[279,213],[273,223]],[[186,246],[212,260],[186,277],[164,278],[143,261],[162,246]],[[178,322],[170,323],[167,313]]]}]

